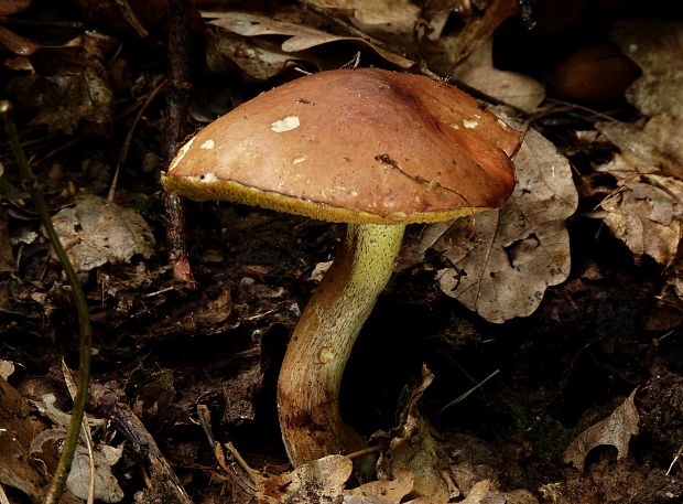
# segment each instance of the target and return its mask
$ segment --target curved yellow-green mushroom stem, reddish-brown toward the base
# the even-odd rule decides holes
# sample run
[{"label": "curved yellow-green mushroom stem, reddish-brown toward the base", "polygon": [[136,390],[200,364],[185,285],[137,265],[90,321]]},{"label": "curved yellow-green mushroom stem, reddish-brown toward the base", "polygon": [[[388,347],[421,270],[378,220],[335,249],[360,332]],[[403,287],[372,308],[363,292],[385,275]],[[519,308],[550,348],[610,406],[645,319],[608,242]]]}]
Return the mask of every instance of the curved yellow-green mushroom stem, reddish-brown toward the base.
[{"label": "curved yellow-green mushroom stem, reddish-brown toward the base", "polygon": [[278,411],[294,465],[362,448],[339,414],[339,386],[356,336],[393,271],[404,225],[349,224],[304,310],[282,363]]}]

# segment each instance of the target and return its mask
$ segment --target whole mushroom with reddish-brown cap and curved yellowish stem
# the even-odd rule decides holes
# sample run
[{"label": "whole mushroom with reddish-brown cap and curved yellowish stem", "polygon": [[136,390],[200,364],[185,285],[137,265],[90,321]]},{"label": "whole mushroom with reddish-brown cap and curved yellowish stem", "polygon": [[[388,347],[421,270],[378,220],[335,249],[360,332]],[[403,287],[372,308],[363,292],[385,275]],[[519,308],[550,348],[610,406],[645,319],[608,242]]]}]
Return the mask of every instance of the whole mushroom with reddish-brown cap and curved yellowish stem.
[{"label": "whole mushroom with reddish-brown cap and curved yellowish stem", "polygon": [[500,206],[521,135],[457,88],[377,68],[301,77],[191,138],[166,191],[347,223],[278,380],[293,464],[361,448],[339,415],[356,336],[391,277],[405,225]]}]

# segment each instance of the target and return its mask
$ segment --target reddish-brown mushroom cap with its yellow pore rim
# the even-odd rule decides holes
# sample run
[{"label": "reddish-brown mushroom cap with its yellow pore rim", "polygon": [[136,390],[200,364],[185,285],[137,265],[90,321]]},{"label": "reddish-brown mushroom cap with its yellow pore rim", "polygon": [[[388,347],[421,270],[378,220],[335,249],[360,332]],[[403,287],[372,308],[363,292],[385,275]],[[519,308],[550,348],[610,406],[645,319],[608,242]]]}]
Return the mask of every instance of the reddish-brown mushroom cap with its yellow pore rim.
[{"label": "reddish-brown mushroom cap with its yellow pore rim", "polygon": [[415,223],[500,206],[521,135],[459,89],[377,68],[301,77],[187,143],[163,185],[334,222]]}]

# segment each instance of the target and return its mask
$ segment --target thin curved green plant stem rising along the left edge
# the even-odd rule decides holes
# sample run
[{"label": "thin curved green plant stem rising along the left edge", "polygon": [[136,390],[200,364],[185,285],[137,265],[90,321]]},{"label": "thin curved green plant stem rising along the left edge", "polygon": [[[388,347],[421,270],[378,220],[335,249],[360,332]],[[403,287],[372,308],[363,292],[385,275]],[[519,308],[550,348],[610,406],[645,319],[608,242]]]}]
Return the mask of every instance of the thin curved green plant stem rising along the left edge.
[{"label": "thin curved green plant stem rising along the left edge", "polygon": [[64,448],[62,449],[62,455],[59,457],[59,463],[57,464],[57,469],[52,478],[50,490],[47,491],[47,495],[45,497],[45,504],[56,504],[64,492],[66,476],[68,475],[72,461],[74,460],[85,406],[88,399],[93,328],[90,326],[90,318],[85,293],[83,292],[76,271],[74,270],[74,267],[72,266],[72,262],[69,261],[68,256],[66,255],[66,251],[59,242],[59,237],[57,236],[57,233],[52,224],[50,208],[47,207],[47,203],[43,196],[43,184],[31,171],[31,165],[29,164],[24,151],[21,148],[21,143],[19,142],[19,135],[17,132],[17,126],[11,117],[11,105],[9,101],[0,101],[0,115],[4,119],[4,130],[9,137],[14,158],[17,159],[17,164],[19,165],[24,189],[29,192],[29,194],[31,194],[33,203],[35,204],[35,210],[41,216],[43,226],[45,226],[45,230],[50,237],[50,242],[52,243],[55,254],[62,264],[62,268],[64,268],[64,272],[66,274],[66,278],[68,279],[68,283],[72,288],[73,302],[76,308],[76,312],[78,313],[78,326],[80,332],[78,393],[74,399],[74,409],[72,411],[72,418]]}]

